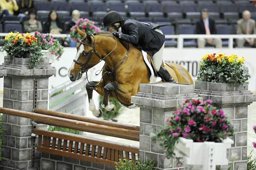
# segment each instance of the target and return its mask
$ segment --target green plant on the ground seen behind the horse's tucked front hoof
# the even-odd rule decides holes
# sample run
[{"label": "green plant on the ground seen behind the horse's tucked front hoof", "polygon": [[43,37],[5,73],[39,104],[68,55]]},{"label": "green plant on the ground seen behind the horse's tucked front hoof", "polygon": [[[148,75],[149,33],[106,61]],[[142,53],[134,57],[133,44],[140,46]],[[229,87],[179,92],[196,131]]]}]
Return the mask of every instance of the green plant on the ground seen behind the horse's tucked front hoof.
[{"label": "green plant on the ground seen behind the horse's tucked front hoof", "polygon": [[103,101],[103,97],[100,96],[100,98],[99,98],[99,105],[100,105],[100,109],[102,110],[102,113],[103,113],[102,118],[104,120],[114,119],[118,115],[120,115],[120,108],[122,106],[121,106],[121,104],[118,103],[118,101],[116,99],[114,99],[114,98],[109,99],[109,101],[112,102],[116,106],[116,109],[114,111],[112,111],[112,112],[109,112],[108,110],[102,108],[102,106],[101,106],[102,101]]}]

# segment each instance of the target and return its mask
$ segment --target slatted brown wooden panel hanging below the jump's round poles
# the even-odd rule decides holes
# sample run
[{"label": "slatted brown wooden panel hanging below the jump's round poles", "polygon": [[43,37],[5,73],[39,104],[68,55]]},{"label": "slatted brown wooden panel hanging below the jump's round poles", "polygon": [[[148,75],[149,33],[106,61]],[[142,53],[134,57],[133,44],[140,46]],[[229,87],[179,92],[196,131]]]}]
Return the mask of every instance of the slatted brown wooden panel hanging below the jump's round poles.
[{"label": "slatted brown wooden panel hanging below the jump's round poles", "polygon": [[37,150],[40,152],[107,164],[113,167],[119,158],[122,160],[131,159],[135,162],[140,157],[139,148],[125,144],[46,130],[35,129],[33,133],[38,135]]}]

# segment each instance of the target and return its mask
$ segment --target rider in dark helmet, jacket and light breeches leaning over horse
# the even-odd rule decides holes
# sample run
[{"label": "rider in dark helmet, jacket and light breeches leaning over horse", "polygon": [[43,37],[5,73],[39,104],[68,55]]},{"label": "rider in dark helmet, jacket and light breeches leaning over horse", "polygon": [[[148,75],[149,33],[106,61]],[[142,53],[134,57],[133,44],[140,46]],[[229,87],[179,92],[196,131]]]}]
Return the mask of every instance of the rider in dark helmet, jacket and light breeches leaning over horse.
[{"label": "rider in dark helmet, jacket and light breeches leaning over horse", "polygon": [[143,23],[137,20],[126,19],[116,11],[110,11],[103,18],[104,28],[108,32],[132,43],[138,49],[143,49],[148,55],[153,57],[153,63],[157,74],[166,82],[175,82],[169,72],[161,66],[163,61],[163,49],[165,37],[163,32],[158,29],[161,26],[155,23]]}]

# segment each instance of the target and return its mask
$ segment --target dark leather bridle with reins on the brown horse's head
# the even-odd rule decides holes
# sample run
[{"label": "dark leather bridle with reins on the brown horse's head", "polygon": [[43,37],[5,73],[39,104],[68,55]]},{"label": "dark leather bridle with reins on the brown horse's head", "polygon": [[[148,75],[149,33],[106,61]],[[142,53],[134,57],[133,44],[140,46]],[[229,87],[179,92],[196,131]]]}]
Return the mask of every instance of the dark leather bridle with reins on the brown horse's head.
[{"label": "dark leather bridle with reins on the brown horse's head", "polygon": [[[90,69],[90,68],[87,68],[87,69],[85,69],[85,68],[88,66],[88,64],[89,64],[89,62],[90,62],[90,60],[91,60],[91,58],[92,58],[92,56],[93,56],[93,53],[95,53],[96,56],[99,57],[99,59],[100,59],[99,62],[101,62],[102,60],[104,60],[105,58],[107,58],[107,57],[116,49],[116,46],[117,46],[116,37],[114,36],[115,41],[116,41],[116,46],[111,50],[111,52],[108,53],[108,55],[106,55],[105,57],[102,58],[102,56],[99,55],[99,53],[98,53],[97,50],[96,50],[96,40],[95,40],[94,35],[93,35],[93,34],[90,34],[90,36],[93,37],[93,44],[84,43],[83,40],[85,39],[85,36],[82,38],[82,40],[80,40],[80,43],[83,44],[84,46],[93,47],[93,49],[92,49],[89,53],[85,53],[85,52],[83,53],[84,57],[88,56],[88,57],[87,57],[87,60],[85,61],[85,63],[81,63],[80,61],[77,61],[77,60],[75,60],[75,59],[73,60],[75,63],[77,63],[77,64],[80,65],[80,67],[79,67],[79,73],[80,73],[80,75],[82,75],[84,72],[87,72],[88,69]],[[98,63],[97,63],[97,64],[98,64]]]}]

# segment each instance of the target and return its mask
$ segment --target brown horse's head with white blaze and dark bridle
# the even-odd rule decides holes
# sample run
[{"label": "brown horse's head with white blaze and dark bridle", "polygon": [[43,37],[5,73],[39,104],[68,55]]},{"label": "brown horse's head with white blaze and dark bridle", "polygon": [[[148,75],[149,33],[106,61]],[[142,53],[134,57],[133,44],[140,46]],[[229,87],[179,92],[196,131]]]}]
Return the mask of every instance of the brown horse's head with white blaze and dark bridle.
[{"label": "brown horse's head with white blaze and dark bridle", "polygon": [[79,80],[84,72],[100,61],[100,57],[95,49],[95,37],[82,32],[80,29],[77,29],[77,31],[82,36],[82,39],[78,46],[76,46],[76,58],[73,60],[68,71],[71,81]]}]

